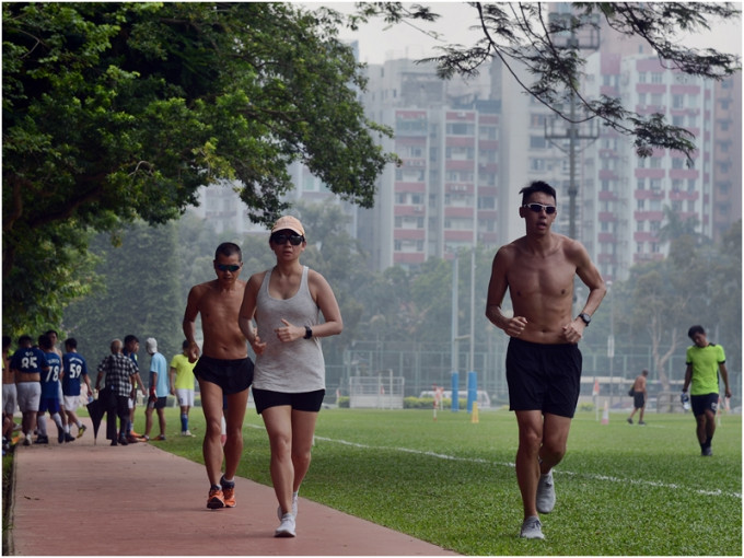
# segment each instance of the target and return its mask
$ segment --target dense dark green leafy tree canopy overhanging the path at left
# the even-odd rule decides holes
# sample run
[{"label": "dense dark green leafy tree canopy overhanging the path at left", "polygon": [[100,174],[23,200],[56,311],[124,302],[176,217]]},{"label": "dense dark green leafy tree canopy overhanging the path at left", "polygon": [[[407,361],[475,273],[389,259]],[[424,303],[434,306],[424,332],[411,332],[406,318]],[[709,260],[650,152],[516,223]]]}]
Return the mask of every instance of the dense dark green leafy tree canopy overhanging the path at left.
[{"label": "dense dark green leafy tree canopy overhanging the path at left", "polygon": [[[164,223],[220,179],[240,184],[256,222],[287,207],[297,160],[341,198],[372,206],[377,175],[397,158],[379,147],[390,130],[358,102],[365,82],[336,37],[339,18],[290,3],[3,3],[13,312],[40,304],[39,281],[60,299],[46,301],[49,318],[84,293],[70,289],[69,270],[53,270],[84,256],[89,230]],[[18,317],[3,305],[4,321]]]}]

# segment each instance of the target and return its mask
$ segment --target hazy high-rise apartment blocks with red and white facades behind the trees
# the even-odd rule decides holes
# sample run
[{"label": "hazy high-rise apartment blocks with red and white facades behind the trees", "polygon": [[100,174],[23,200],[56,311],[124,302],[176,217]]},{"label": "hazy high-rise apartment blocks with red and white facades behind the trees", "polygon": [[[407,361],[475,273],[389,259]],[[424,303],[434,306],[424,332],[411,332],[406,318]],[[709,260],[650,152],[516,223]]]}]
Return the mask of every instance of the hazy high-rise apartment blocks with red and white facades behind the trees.
[{"label": "hazy high-rise apartment blocks with red and white facades behind the trees", "polygon": [[[360,98],[371,119],[394,130],[383,148],[403,161],[380,176],[374,208],[345,206],[371,269],[415,268],[461,247],[511,242],[524,232],[519,189],[534,179],[556,187],[555,230],[569,234],[573,222],[607,280],[664,257],[665,208],[683,221],[695,219],[697,232],[714,240],[741,219],[741,74],[720,83],[686,75],[662,66],[638,39],[620,40],[607,30],[601,36],[598,50],[588,56],[585,95],[620,97],[640,115],[661,113],[690,130],[693,165],[663,149],[638,158],[632,138],[596,123],[579,130],[583,139],[569,150],[566,121],[515,83],[512,72],[531,80],[523,69],[505,69],[500,60],[467,82],[442,81],[432,65],[409,59],[371,65]],[[302,165],[290,174],[293,198],[335,199]],[[205,214],[231,219],[239,231],[263,230],[247,222],[236,201],[229,187],[209,188]]]}]

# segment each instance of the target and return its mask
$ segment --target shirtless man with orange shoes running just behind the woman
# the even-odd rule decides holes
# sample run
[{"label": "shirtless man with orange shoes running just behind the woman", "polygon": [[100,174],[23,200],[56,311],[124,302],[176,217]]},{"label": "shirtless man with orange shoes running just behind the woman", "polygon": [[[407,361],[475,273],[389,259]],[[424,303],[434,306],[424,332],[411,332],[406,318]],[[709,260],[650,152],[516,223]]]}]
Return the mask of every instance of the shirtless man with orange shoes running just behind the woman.
[{"label": "shirtless man with orange shoes running just behind the woman", "polygon": [[[202,444],[209,497],[207,508],[235,507],[235,473],[243,452],[243,418],[248,402],[248,387],[253,381],[253,362],[248,358],[247,342],[237,325],[237,313],[243,302],[245,281],[237,277],[243,268],[241,248],[225,242],[214,253],[217,279],[197,284],[188,293],[184,313],[184,335],[188,341],[189,362],[198,362],[194,375],[199,382],[201,408],[207,420]],[[196,317],[201,314],[204,350],[199,358],[196,344]],[[222,403],[226,396],[226,441],[224,443],[224,474]]]}]

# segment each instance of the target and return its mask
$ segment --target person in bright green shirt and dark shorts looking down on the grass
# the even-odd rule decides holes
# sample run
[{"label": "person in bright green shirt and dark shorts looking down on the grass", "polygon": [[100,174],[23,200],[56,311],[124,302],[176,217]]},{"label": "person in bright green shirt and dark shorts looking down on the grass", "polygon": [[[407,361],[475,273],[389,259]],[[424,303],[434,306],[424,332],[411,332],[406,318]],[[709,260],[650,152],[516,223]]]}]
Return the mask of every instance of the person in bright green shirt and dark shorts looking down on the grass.
[{"label": "person in bright green shirt and dark shorts looking down on the grass", "polygon": [[718,377],[719,371],[725,385],[725,396],[731,397],[729,387],[729,372],[725,368],[723,347],[708,341],[702,326],[694,325],[687,336],[695,342],[687,348],[687,369],[685,384],[682,387],[683,397],[691,382],[690,403],[697,421],[697,437],[700,442],[702,456],[710,456],[713,451],[710,444],[716,432],[716,411],[718,410]]}]

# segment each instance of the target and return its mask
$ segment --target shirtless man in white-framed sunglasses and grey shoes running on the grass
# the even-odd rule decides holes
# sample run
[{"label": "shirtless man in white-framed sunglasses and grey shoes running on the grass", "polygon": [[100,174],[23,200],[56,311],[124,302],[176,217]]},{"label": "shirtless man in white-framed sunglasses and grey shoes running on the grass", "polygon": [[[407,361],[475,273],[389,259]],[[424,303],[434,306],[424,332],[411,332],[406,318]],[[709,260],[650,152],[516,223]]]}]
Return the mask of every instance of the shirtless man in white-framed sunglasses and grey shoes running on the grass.
[{"label": "shirtless man in white-framed sunglasses and grey shoes running on the grass", "polygon": [[[486,317],[511,337],[507,383],[519,428],[515,469],[524,507],[520,536],[544,538],[537,513],[548,513],[555,505],[553,467],[566,454],[579,399],[578,344],[606,288],[586,248],[550,231],[557,216],[556,190],[534,182],[520,194],[526,235],[496,253]],[[573,316],[577,275],[589,297]],[[513,316],[501,306],[507,289]]]}]

